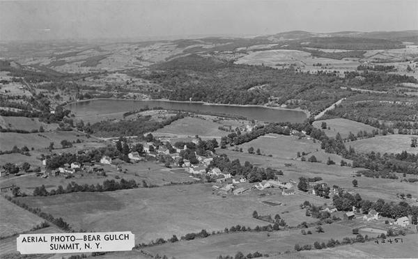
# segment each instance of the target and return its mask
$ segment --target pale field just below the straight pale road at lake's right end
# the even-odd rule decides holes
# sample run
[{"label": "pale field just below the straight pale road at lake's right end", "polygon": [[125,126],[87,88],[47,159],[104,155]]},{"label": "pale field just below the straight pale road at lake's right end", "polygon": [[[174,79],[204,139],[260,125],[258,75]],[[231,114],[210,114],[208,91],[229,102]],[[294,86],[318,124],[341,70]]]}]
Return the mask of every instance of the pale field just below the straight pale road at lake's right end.
[{"label": "pale field just below the straight pale road at lake's right end", "polygon": [[[316,120],[314,121],[314,127],[321,129],[321,123],[327,123],[327,127],[330,127],[330,130],[325,129],[323,130],[327,136],[335,137],[336,134],[339,132],[343,139],[348,137],[348,134],[353,133],[357,136],[357,132],[366,131],[367,133],[371,133],[373,130],[378,130],[376,127],[372,127],[370,125],[366,125],[364,123],[357,123],[354,120],[347,120],[344,118],[334,118],[330,120]],[[322,129],[321,129],[322,130]]]}]

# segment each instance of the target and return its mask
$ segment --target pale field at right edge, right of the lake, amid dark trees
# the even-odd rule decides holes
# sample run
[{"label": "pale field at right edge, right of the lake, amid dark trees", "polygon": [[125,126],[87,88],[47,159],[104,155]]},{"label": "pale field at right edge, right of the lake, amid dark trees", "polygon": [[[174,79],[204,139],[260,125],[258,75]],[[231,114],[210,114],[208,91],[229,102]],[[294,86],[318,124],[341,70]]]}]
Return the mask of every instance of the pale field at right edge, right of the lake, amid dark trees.
[{"label": "pale field at right edge, right of the lake, amid dark trees", "polygon": [[418,154],[418,148],[411,148],[411,135],[393,134],[386,136],[375,136],[369,139],[359,139],[346,143],[346,146],[352,146],[359,152],[380,152],[385,153],[400,153],[403,150],[406,152]]}]

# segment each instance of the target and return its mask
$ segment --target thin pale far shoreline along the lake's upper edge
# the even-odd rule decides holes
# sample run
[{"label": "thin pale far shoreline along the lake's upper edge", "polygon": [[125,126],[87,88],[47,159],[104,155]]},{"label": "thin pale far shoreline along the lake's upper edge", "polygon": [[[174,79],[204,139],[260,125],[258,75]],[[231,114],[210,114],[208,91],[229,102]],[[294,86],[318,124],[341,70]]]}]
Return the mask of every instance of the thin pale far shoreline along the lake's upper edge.
[{"label": "thin pale far shoreline along the lake's upper edge", "polygon": [[160,102],[178,102],[178,103],[184,103],[184,104],[202,104],[207,106],[224,106],[224,107],[260,107],[260,108],[268,108],[268,109],[275,109],[280,111],[302,111],[305,113],[307,118],[311,116],[311,112],[304,110],[304,109],[288,109],[283,107],[270,107],[267,105],[257,105],[257,104],[218,104],[218,103],[212,103],[212,102],[203,102],[203,101],[177,101],[177,100],[168,100],[168,99],[143,99],[143,100],[131,100],[131,99],[121,99],[121,98],[93,98],[88,100],[79,100],[79,101],[73,101],[68,102],[68,104],[65,104],[64,107],[67,107],[70,104],[77,104],[80,102],[89,102],[89,101],[95,101],[95,100],[118,100],[118,101],[141,101],[141,102],[147,102],[147,101],[160,101]]}]

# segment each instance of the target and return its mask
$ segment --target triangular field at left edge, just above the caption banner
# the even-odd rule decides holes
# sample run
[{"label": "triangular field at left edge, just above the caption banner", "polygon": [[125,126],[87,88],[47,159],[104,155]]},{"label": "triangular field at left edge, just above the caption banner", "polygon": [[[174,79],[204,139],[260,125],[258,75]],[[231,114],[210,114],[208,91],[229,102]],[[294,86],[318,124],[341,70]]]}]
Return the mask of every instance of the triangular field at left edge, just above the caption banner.
[{"label": "triangular field at left edge, just above the caption banner", "polygon": [[0,207],[0,237],[31,230],[31,228],[44,221],[3,197],[0,197]]}]

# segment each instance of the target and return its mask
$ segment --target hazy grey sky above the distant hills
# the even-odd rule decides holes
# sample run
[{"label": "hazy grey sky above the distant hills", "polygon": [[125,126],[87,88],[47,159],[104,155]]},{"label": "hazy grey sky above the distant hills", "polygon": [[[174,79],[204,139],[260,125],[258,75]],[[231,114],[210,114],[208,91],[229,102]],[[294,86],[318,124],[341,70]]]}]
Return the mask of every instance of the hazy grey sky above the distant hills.
[{"label": "hazy grey sky above the distant hills", "polygon": [[418,30],[418,0],[2,1],[0,40]]}]

